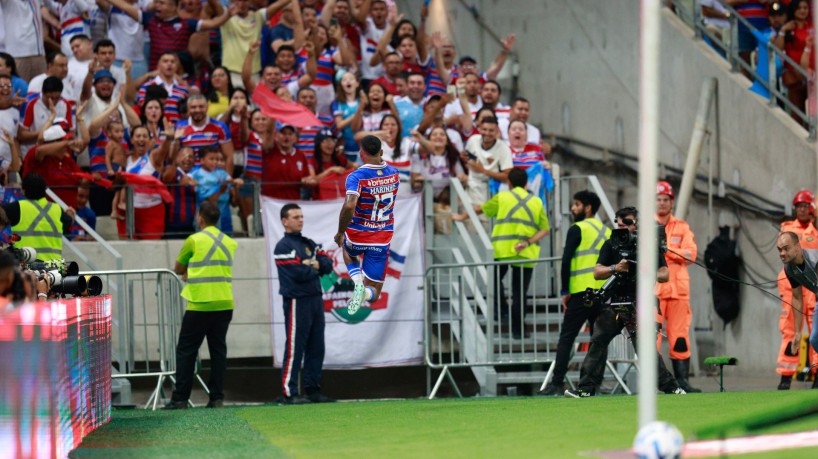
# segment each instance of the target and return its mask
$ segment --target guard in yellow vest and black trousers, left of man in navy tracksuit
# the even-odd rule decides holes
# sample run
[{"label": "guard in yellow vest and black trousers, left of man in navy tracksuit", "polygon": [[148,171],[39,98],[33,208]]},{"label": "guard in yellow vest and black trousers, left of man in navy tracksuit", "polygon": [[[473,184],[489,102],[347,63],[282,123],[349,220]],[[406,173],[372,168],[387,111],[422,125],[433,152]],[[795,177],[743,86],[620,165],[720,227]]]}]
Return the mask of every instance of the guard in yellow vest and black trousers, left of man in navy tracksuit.
[{"label": "guard in yellow vest and black trousers, left of man in navy tracksuit", "polygon": [[216,228],[219,207],[205,201],[196,216],[198,233],[185,240],[176,259],[176,274],[187,275],[182,297],[188,301],[176,346],[176,386],[165,409],[188,406],[199,346],[207,337],[210,351],[210,402],[221,408],[227,368],[227,327],[233,318],[233,259],[238,245]]}]

